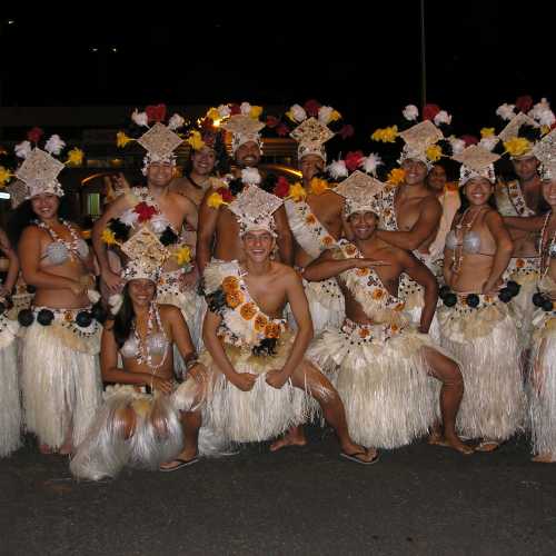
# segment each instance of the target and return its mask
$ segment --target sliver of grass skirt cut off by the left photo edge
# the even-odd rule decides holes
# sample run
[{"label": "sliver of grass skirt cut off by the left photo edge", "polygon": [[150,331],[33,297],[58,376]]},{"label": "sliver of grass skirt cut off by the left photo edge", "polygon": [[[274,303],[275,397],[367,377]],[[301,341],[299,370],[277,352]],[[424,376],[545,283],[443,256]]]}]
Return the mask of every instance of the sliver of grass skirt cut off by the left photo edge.
[{"label": "sliver of grass skirt cut off by the left photo edge", "polygon": [[0,457],[21,446],[21,400],[17,350],[18,322],[0,316]]}]

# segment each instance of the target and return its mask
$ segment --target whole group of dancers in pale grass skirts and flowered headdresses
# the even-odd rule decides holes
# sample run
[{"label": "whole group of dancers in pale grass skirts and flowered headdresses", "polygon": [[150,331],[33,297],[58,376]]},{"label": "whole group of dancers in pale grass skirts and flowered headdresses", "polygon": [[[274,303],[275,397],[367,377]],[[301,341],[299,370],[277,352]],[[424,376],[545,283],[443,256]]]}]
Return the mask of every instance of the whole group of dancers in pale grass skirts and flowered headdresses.
[{"label": "whole group of dancers in pale grass skirts and flowered headdresses", "polygon": [[[82,153],[32,130],[0,168],[17,205],[0,234],[0,456],[27,431],[98,480],[304,445],[326,421],[360,465],[426,435],[470,455],[519,431],[556,461],[555,117],[545,99],[497,115],[498,131],[458,138],[446,111],[408,106],[374,131],[379,155],[330,161],[345,128],[316,101],[264,121],[221,105],[187,129],[136,110],[117,140],[146,150],[146,185],[115,178],[92,245],[59,181]],[[297,181],[258,169],[277,126]]]}]

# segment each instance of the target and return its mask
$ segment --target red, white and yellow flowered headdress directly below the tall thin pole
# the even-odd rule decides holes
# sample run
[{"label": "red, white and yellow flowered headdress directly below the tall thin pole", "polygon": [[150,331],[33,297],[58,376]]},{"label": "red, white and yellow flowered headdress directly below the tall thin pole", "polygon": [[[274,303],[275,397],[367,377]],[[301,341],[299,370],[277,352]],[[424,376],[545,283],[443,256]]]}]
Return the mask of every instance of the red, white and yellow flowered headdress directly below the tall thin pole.
[{"label": "red, white and yellow flowered headdress directly below the tall thin pole", "polygon": [[377,129],[370,136],[374,141],[383,143],[395,143],[401,138],[404,147],[397,160],[399,165],[407,159],[420,160],[430,170],[441,157],[455,153],[457,145],[454,146],[453,137],[448,137],[451,116],[446,110],[437,105],[426,105],[420,122],[417,122],[419,109],[415,105],[406,106],[401,113],[404,121],[399,127]]}]

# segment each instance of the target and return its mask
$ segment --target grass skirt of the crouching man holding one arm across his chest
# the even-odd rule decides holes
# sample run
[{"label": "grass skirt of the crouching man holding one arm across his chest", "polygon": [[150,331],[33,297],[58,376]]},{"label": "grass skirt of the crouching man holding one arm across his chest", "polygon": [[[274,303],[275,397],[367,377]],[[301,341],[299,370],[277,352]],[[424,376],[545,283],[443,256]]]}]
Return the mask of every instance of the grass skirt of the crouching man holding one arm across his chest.
[{"label": "grass skirt of the crouching man holding one arm across his chest", "polygon": [[307,354],[332,380],[349,434],[364,446],[405,446],[435,423],[437,400],[421,350],[435,346],[413,328],[393,328],[346,319],[340,330],[327,330]]}]

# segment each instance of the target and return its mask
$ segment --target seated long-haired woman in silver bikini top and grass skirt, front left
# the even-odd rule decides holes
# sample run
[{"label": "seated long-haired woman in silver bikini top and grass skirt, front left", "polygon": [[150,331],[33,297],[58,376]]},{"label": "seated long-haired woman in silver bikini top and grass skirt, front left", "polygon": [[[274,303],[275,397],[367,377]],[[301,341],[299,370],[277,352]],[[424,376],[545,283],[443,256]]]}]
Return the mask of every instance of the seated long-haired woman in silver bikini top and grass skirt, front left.
[{"label": "seated long-haired woman in silver bikini top and grass skirt, front left", "polygon": [[[186,426],[183,439],[182,424],[197,416],[180,416],[172,403],[177,387],[172,345],[183,357],[191,379],[202,374],[202,367],[181,311],[155,302],[158,278],[158,269],[141,259],[130,261],[123,270],[127,284],[121,306],[115,307],[116,315],[102,334],[102,379],[112,385],[107,387],[105,405],[71,461],[77,477],[113,477],[125,465],[175,470],[196,461],[197,436],[188,437]],[[195,448],[183,449],[185,440]]]}]

